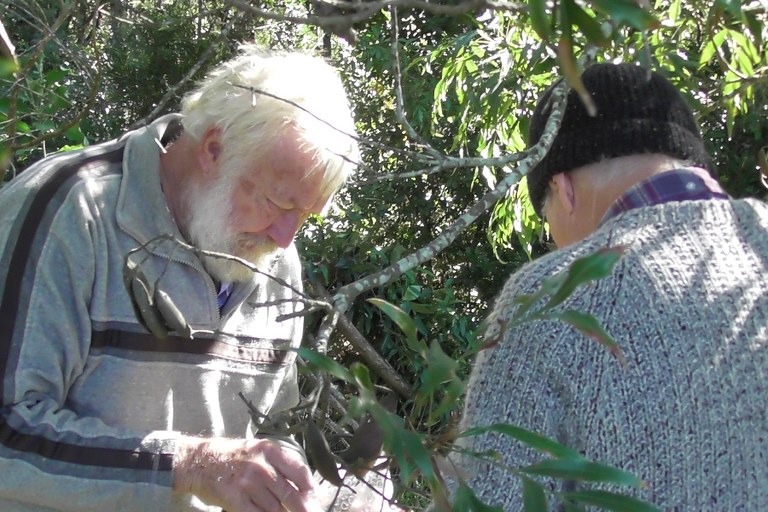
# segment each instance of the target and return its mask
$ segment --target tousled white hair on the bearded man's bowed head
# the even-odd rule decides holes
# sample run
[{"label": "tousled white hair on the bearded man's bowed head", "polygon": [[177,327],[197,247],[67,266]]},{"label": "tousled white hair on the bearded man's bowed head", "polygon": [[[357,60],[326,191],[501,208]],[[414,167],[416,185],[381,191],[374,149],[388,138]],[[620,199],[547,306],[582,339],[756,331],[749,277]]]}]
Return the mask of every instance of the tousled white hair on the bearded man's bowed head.
[{"label": "tousled white hair on the bearded man's bowed head", "polygon": [[240,50],[184,97],[184,129],[199,141],[208,128],[220,128],[224,163],[243,173],[279,135],[295,129],[302,149],[313,153],[311,172],[324,173],[322,192],[331,196],[359,160],[338,73],[318,57],[271,53],[256,45]]}]

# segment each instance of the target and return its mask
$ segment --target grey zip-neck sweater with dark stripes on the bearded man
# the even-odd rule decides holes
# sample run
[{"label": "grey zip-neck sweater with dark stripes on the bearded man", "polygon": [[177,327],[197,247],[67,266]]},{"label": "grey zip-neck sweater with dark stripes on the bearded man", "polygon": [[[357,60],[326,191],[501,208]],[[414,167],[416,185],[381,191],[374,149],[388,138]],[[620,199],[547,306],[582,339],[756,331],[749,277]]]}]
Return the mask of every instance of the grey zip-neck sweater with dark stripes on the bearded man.
[{"label": "grey zip-neck sweater with dark stripes on the bearded man", "polygon": [[[0,190],[0,510],[207,510],[171,493],[182,434],[245,437],[250,416],[298,401],[293,292],[255,277],[219,312],[199,259],[172,242],[137,254],[195,329],[158,340],[122,280],[128,251],[181,235],[159,182],[170,119],[47,158]],[[301,287],[293,247],[272,273]]]}]

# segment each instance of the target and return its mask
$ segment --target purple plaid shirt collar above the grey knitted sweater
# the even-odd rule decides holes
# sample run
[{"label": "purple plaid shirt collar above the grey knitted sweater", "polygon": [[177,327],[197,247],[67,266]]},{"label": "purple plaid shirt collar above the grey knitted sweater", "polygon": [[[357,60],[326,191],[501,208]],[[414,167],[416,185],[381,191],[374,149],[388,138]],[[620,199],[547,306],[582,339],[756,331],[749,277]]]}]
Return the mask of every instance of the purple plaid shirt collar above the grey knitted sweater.
[{"label": "purple plaid shirt collar above the grey knitted sweater", "polygon": [[603,215],[600,224],[634,208],[670,201],[729,199],[720,184],[698,167],[674,169],[651,176],[627,190]]}]

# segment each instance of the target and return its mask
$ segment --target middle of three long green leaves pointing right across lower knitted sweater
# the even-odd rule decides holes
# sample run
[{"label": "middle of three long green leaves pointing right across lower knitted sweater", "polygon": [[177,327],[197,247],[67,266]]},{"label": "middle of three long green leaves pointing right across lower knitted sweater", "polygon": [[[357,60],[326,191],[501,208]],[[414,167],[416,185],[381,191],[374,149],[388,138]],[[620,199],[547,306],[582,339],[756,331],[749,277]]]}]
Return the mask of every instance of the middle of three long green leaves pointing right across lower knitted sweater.
[{"label": "middle of three long green leaves pointing right across lower knitted sweater", "polygon": [[603,482],[607,484],[627,485],[630,487],[647,487],[641,479],[627,471],[591,462],[586,459],[547,459],[524,468],[520,471],[529,475],[548,476],[584,482]]}]

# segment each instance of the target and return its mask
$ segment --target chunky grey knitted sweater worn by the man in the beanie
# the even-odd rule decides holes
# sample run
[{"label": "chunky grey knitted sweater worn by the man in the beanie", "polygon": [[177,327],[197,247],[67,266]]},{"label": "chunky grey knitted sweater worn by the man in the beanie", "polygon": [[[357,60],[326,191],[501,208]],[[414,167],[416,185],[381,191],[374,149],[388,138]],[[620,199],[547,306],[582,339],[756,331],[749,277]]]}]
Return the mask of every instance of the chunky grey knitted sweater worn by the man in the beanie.
[{"label": "chunky grey knitted sweater worn by the man in the beanie", "polygon": [[[504,329],[513,299],[577,257],[623,244],[613,274],[565,307],[594,314],[622,347],[607,350],[562,322]],[[507,422],[645,479],[634,492],[663,510],[768,505],[768,206],[687,201],[639,208],[510,278],[489,318],[499,345],[481,352],[463,426]],[[496,434],[467,441],[513,466],[544,455]],[[518,477],[464,460],[478,496],[519,510]],[[552,483],[573,489],[573,483]],[[613,489],[616,490],[616,489]]]}]

